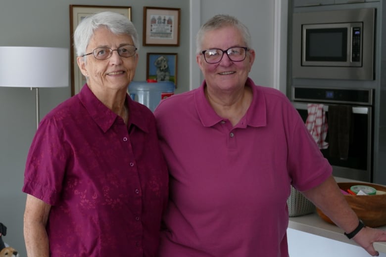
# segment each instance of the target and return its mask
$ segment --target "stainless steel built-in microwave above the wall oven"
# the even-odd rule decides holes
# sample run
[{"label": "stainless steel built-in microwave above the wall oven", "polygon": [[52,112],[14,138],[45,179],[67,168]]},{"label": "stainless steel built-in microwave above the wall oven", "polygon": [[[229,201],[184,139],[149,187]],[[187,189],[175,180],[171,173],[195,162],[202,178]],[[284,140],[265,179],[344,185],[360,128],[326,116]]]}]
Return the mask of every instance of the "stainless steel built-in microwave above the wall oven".
[{"label": "stainless steel built-in microwave above the wall oven", "polygon": [[297,12],[292,77],[374,79],[375,8]]}]

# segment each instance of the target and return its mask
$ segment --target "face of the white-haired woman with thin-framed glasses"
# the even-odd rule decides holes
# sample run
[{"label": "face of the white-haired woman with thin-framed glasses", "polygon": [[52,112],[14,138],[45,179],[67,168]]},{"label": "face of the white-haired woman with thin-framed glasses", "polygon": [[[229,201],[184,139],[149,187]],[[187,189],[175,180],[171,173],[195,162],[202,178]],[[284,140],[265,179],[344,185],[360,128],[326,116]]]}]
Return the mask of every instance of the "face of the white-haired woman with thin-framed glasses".
[{"label": "face of the white-haired woman with thin-framed glasses", "polygon": [[[105,27],[100,27],[94,32],[86,52],[91,53],[98,47],[109,47],[113,50],[125,44],[133,44],[130,36],[110,32]],[[118,90],[125,89],[133,80],[137,63],[138,54],[131,57],[121,57],[118,51],[113,51],[110,58],[98,60],[94,54],[84,57],[78,57],[78,65],[82,74],[87,77],[87,84],[90,88],[96,90]]]}]

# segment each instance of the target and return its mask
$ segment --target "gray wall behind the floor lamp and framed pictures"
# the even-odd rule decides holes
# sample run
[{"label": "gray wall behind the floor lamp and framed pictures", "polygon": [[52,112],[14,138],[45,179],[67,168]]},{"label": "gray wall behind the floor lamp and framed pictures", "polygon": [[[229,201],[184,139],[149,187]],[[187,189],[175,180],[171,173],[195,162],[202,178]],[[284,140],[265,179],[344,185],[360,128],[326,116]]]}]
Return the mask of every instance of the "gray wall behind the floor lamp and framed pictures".
[{"label": "gray wall behind the floor lamp and framed pictures", "polygon": [[[189,89],[189,65],[186,65],[189,63],[190,47],[189,0],[1,0],[0,46],[69,48],[70,4],[131,6],[132,21],[141,35],[141,43],[143,6],[181,8],[180,46],[141,46],[135,80],[145,80],[146,52],[177,52],[177,92]],[[20,76],[23,76],[22,70]],[[41,88],[40,116],[43,117],[70,94],[70,87]],[[36,129],[35,117],[35,91],[30,88],[0,87],[0,222],[8,228],[3,240],[18,249],[21,257],[26,256],[23,238],[25,194],[21,188],[25,159]]]}]

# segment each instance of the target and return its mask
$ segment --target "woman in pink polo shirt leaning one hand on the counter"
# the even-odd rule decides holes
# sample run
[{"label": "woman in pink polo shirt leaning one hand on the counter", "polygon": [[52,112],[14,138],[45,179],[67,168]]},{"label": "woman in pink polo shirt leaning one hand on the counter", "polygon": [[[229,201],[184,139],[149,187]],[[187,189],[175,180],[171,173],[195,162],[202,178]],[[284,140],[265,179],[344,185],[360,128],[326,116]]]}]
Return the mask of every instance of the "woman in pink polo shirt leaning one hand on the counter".
[{"label": "woman in pink polo shirt leaning one hand on the counter", "polygon": [[247,28],[217,15],[196,45],[204,82],[154,112],[170,171],[159,256],[288,257],[291,184],[376,255],[386,232],[363,228],[288,98],[248,78]]}]

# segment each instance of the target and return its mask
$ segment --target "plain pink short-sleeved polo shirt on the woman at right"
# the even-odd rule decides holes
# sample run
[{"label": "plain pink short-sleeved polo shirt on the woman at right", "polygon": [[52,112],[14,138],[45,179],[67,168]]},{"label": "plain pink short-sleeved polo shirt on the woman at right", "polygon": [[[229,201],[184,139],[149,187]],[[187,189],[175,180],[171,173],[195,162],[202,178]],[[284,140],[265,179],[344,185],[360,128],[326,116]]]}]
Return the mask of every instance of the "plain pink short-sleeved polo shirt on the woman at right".
[{"label": "plain pink short-sleeved polo shirt on the woman at right", "polygon": [[204,86],[155,110],[170,171],[160,257],[287,257],[287,199],[332,173],[297,111],[280,91],[255,86],[232,126]]}]

